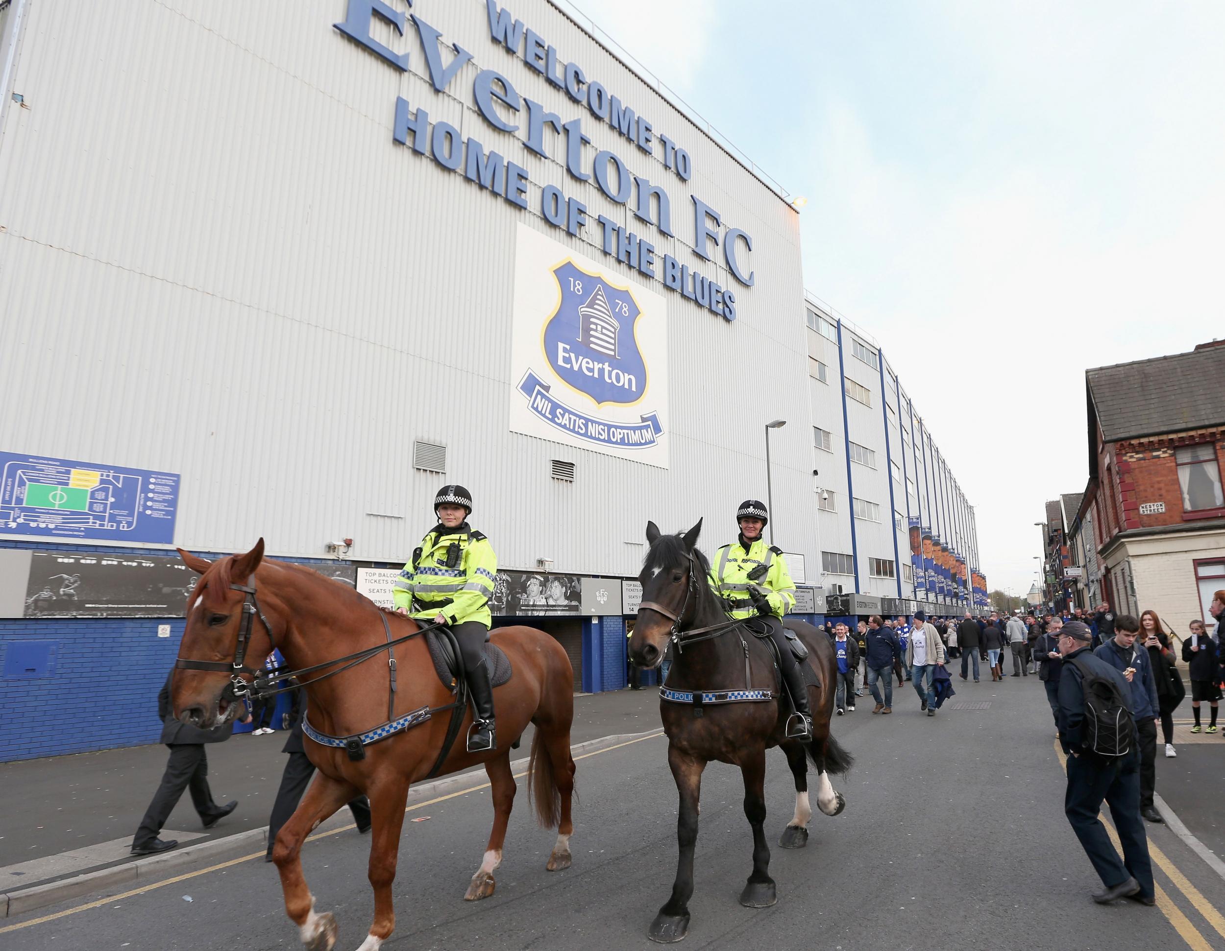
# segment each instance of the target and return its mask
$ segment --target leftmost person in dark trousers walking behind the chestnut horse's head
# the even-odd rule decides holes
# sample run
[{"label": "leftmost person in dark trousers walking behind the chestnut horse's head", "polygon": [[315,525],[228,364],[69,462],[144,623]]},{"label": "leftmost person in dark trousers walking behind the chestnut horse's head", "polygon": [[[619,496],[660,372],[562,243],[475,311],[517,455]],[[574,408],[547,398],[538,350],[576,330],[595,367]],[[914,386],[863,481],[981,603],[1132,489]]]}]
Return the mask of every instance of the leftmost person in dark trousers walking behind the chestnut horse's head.
[{"label": "leftmost person in dark trousers walking behind the chestnut horse's head", "polygon": [[134,856],[152,856],[179,845],[174,838],[169,841],[158,838],[158,834],[174,811],[184,789],[191,789],[191,804],[196,807],[205,829],[212,829],[218,820],[224,819],[238,807],[236,799],[225,805],[213,802],[212,789],[208,788],[208,758],[205,755],[205,744],[229,739],[234,726],[227,721],[213,729],[200,729],[175,720],[170,706],[173,677],[172,668],[157,695],[157,712],[162,718],[160,742],[170,748],[170,759],[165,764],[162,785],[153,793],[153,800],[132,838]]}]

